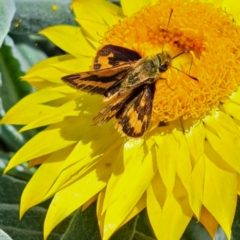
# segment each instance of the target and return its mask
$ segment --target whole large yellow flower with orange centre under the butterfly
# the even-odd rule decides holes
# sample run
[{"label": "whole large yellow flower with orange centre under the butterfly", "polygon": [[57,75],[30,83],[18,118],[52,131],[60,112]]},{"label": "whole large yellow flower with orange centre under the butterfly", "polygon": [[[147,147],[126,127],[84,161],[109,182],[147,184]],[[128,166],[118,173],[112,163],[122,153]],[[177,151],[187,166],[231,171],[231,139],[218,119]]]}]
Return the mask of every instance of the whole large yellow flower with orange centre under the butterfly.
[{"label": "whole large yellow flower with orange centre under the butterfly", "polygon": [[[41,32],[68,54],[35,65],[24,80],[38,91],[1,121],[25,125],[20,131],[47,126],[6,169],[26,161],[41,164],[23,192],[21,216],[53,197],[46,238],[73,211],[97,200],[102,239],[144,208],[158,239],[180,239],[192,216],[212,237],[219,224],[230,238],[240,191],[238,1],[122,0],[121,5],[75,0],[81,27]],[[101,97],[61,81],[88,71],[106,44],[142,57],[163,50],[171,56],[190,53],[174,58],[179,70],[170,68],[162,75],[166,80],[156,83],[151,126],[142,138],[121,136],[114,120],[92,126]]]}]

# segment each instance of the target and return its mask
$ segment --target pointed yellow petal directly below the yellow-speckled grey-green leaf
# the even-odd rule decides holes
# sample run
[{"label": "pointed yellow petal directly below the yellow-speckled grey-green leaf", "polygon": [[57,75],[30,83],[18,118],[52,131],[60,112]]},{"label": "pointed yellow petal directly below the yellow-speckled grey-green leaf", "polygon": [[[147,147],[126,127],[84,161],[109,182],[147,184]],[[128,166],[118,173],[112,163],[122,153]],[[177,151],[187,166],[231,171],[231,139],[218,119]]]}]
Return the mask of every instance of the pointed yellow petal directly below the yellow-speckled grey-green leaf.
[{"label": "pointed yellow petal directly below the yellow-speckled grey-green leaf", "polygon": [[39,32],[73,56],[93,57],[96,50],[87,42],[80,27],[53,26]]}]

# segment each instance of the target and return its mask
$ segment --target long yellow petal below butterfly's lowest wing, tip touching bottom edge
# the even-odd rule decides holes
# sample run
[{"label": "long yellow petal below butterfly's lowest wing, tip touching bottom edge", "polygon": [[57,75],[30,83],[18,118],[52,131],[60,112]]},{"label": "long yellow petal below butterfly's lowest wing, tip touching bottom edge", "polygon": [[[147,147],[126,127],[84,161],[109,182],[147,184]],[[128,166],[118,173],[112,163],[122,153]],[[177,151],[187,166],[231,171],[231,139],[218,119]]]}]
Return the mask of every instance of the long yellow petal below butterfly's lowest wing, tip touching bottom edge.
[{"label": "long yellow petal below butterfly's lowest wing, tip touching bottom edge", "polygon": [[132,150],[129,152],[132,155],[131,161],[124,165],[124,172],[121,173],[121,178],[118,179],[111,196],[115,201],[108,201],[104,219],[104,240],[109,239],[130,214],[156,171],[151,151],[147,155],[146,153],[144,155],[143,148],[138,149],[136,155],[133,155]]}]

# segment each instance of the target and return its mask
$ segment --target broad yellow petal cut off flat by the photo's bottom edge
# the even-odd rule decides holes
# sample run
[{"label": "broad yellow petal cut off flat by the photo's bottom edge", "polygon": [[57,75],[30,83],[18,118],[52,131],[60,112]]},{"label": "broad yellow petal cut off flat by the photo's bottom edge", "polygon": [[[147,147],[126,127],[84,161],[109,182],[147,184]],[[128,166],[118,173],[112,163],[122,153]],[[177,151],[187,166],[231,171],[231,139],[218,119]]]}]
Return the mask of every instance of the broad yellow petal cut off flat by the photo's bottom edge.
[{"label": "broad yellow petal cut off flat by the photo's bottom edge", "polygon": [[192,218],[188,194],[180,180],[176,179],[173,194],[168,194],[158,174],[147,189],[147,211],[158,239],[179,240]]}]

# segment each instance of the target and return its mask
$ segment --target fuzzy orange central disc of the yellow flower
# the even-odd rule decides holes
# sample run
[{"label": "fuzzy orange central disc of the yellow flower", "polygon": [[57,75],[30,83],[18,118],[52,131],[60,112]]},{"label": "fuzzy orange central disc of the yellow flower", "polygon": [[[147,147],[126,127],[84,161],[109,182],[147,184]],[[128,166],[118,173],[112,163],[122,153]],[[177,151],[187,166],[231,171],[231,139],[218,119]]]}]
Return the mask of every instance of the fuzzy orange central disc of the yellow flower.
[{"label": "fuzzy orange central disc of the yellow flower", "polygon": [[240,27],[212,4],[164,0],[123,19],[103,45],[137,51],[143,58],[163,51],[171,65],[155,82],[152,120],[203,118],[240,84]]}]

